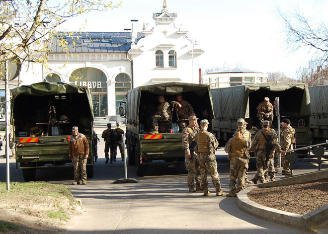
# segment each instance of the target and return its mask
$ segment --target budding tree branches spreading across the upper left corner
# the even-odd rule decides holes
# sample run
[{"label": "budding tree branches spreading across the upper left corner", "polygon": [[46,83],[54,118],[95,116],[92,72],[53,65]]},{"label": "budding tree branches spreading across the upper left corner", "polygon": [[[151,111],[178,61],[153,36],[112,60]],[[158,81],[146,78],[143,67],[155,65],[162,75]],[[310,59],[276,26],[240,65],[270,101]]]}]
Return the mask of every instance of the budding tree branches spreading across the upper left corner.
[{"label": "budding tree branches spreading across the upper left corner", "polygon": [[[0,68],[5,61],[46,64],[49,43],[66,20],[120,6],[111,0],[0,0]],[[68,50],[64,37],[58,46]]]}]

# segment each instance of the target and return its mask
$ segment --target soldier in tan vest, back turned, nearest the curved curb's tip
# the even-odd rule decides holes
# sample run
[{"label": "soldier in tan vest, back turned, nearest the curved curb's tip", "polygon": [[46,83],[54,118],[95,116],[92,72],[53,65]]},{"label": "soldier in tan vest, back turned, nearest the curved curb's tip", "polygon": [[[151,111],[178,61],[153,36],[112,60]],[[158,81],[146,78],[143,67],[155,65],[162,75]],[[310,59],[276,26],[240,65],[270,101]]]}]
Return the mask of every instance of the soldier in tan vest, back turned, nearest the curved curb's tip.
[{"label": "soldier in tan vest, back turned, nearest the curved curb's tip", "polygon": [[[239,126],[234,137],[229,139],[224,149],[230,157],[230,192],[227,197],[236,197],[236,193],[246,188],[245,175],[248,169],[246,152],[250,150],[251,141],[243,137],[245,131],[244,127]],[[238,184],[237,178],[239,180]]]}]

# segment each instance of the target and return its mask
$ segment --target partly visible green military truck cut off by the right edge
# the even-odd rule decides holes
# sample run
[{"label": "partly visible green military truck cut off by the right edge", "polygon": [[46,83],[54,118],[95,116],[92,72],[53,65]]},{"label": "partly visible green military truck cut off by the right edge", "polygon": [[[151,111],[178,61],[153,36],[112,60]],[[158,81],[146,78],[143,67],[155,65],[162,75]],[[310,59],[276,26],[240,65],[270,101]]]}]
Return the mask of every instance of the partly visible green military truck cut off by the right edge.
[{"label": "partly visible green military truck cut off by the right edge", "polygon": [[328,85],[311,86],[309,92],[312,144],[326,143],[328,140]]}]

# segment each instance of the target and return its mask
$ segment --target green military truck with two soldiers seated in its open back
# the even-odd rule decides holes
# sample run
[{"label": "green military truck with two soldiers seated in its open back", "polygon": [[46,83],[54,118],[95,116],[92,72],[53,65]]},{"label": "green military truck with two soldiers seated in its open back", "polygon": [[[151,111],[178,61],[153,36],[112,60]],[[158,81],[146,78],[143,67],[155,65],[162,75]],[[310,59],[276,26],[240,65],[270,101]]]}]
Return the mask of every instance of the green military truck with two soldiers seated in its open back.
[{"label": "green military truck with two soldiers seated in its open back", "polygon": [[175,132],[172,127],[177,126],[182,120],[177,118],[177,113],[172,106],[170,106],[172,115],[169,120],[159,122],[159,134],[149,134],[152,128],[152,116],[160,104],[158,95],[164,95],[165,100],[170,103],[176,100],[177,93],[182,93],[182,99],[192,105],[199,119],[208,119],[209,131],[213,130],[214,113],[208,85],[169,82],[130,89],[121,116],[126,117],[128,163],[136,165],[139,176],[147,173],[147,166],[152,161],[184,161],[182,129]]}]

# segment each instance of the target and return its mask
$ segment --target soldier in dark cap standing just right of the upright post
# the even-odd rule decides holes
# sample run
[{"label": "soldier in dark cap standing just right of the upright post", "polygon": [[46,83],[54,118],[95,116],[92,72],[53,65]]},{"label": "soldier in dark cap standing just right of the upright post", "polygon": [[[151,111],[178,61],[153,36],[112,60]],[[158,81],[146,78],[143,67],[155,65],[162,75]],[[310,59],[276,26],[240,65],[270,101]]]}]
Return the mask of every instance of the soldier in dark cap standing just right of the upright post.
[{"label": "soldier in dark cap standing just right of the upright post", "polygon": [[[284,131],[283,131],[281,139],[280,139],[281,140],[280,141],[281,148],[284,151],[293,150],[293,144],[295,143],[295,138],[294,138],[295,129],[292,126],[290,126],[289,119],[282,120],[282,127],[283,127]],[[291,175],[290,168],[289,168],[290,164],[289,164],[288,160],[286,159],[286,155],[283,155],[282,166],[285,171],[285,176],[290,176]]]}]

